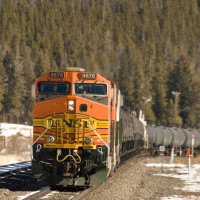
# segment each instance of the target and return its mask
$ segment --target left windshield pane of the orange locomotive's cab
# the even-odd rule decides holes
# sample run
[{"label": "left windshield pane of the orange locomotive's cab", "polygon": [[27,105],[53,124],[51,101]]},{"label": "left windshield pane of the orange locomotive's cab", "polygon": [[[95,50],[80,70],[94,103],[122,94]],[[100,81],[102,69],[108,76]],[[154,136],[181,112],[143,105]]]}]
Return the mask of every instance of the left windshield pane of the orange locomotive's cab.
[{"label": "left windshield pane of the orange locomotive's cab", "polygon": [[38,94],[69,94],[69,82],[39,82]]}]

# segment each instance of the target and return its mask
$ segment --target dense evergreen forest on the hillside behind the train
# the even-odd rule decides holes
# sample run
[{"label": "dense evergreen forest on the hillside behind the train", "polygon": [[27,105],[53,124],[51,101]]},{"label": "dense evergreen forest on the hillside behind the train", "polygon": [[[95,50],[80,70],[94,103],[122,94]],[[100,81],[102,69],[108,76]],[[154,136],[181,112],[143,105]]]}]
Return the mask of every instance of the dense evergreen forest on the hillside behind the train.
[{"label": "dense evergreen forest on the hillside behind the train", "polygon": [[200,0],[1,0],[1,121],[32,124],[32,81],[67,67],[149,121],[199,128]]}]

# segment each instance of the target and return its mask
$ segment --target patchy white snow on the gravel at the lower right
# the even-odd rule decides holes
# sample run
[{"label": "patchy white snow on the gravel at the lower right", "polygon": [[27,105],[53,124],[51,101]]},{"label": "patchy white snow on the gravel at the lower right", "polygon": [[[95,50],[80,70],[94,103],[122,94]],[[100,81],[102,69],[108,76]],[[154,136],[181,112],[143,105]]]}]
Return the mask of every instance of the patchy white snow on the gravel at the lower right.
[{"label": "patchy white snow on the gravel at the lower right", "polygon": [[[191,162],[191,160],[190,160]],[[181,179],[184,183],[183,187],[174,188],[175,190],[183,190],[186,192],[200,192],[200,164],[166,164],[166,163],[148,163],[147,167],[160,167],[160,172],[154,174],[155,176],[165,176],[174,179]],[[190,166],[190,167],[189,167]],[[197,200],[200,197],[190,195],[187,197],[173,195],[170,197],[163,197],[161,200]]]}]

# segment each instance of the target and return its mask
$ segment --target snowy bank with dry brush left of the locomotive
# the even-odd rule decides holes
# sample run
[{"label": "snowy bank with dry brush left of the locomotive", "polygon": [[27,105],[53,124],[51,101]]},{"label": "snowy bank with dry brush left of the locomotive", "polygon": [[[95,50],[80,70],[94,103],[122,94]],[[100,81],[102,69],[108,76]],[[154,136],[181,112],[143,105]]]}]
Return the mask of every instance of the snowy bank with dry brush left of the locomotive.
[{"label": "snowy bank with dry brush left of the locomotive", "polygon": [[31,159],[33,127],[0,123],[0,166]]}]

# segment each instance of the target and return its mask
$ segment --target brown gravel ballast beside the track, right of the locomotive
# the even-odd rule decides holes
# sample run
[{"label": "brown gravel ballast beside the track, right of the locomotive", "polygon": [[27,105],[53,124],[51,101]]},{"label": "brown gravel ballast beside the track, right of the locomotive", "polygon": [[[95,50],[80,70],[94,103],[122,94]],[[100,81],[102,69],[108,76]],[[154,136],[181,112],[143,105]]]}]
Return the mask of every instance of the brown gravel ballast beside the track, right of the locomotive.
[{"label": "brown gravel ballast beside the track, right of the locomotive", "polygon": [[[164,162],[169,163],[169,159],[164,157]],[[83,200],[200,199],[200,192],[175,189],[182,188],[184,183],[180,179],[156,176],[155,174],[161,173],[160,167],[145,166],[147,163],[159,162],[160,157],[135,157]],[[166,169],[164,170],[167,173]]]}]

